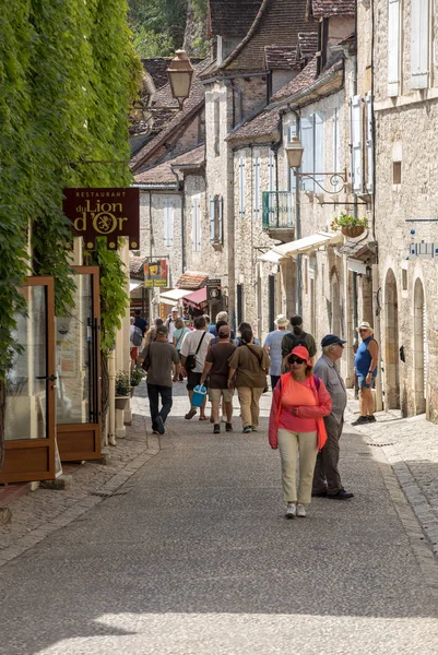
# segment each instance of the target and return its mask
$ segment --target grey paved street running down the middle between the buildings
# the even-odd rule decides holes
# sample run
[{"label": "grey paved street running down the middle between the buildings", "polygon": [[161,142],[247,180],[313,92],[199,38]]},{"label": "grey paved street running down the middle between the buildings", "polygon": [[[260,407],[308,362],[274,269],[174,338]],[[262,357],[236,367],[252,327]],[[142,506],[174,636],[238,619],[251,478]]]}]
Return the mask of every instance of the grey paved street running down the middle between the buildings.
[{"label": "grey paved street running down the middle between the buildings", "polygon": [[213,436],[186,410],[113,496],[0,569],[1,655],[438,651],[438,564],[382,449],[346,432],[355,499],[285,521],[265,429]]}]

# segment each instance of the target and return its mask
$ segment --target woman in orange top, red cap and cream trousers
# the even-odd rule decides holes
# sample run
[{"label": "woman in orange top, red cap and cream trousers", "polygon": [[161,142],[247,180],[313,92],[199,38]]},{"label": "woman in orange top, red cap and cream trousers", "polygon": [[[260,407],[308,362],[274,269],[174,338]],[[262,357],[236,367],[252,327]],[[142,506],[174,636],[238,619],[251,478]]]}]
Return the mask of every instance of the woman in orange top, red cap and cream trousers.
[{"label": "woman in orange top, red cap and cream trousers", "polygon": [[[305,346],[296,346],[288,356],[291,372],[275,386],[269,419],[269,443],[280,449],[286,519],[306,516],[318,451],[327,440],[323,416],[332,401],[323,382],[312,374]],[[299,451],[299,484],[296,465]]]}]

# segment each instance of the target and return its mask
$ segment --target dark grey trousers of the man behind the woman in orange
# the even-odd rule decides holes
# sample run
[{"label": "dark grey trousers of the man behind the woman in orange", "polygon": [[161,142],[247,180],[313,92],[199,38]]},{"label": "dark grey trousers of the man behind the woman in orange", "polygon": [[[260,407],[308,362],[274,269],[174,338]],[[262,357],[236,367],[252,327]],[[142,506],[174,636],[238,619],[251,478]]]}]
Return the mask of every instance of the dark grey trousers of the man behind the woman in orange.
[{"label": "dark grey trousers of the man behind the woman in orange", "polygon": [[312,493],[327,491],[330,496],[344,489],[338,471],[339,440],[341,439],[344,420],[342,419],[341,424],[339,424],[334,416],[330,414],[329,416],[324,416],[324,424],[327,441],[322,451],[318,453],[313,473]]}]

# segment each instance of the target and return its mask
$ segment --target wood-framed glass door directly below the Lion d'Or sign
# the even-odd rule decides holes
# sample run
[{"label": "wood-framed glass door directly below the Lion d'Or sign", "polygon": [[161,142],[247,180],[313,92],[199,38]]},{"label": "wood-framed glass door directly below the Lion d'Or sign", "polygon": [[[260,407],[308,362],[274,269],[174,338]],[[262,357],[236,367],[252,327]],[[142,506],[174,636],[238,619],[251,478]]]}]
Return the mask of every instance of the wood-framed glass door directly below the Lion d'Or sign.
[{"label": "wood-framed glass door directly below the Lion d'Or sign", "polygon": [[73,270],[74,307],[56,320],[57,439],[62,462],[100,457],[99,270]]}]

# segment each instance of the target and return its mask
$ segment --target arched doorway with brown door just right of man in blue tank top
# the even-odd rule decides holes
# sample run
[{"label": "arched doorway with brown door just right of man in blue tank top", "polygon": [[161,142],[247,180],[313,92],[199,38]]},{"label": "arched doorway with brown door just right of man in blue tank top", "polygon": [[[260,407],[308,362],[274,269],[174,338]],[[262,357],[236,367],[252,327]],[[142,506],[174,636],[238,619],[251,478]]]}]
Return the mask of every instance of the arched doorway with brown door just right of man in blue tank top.
[{"label": "arched doorway with brown door just right of man in blue tank top", "polygon": [[399,409],[399,302],[395,275],[391,269],[384,282],[384,405],[386,409]]}]

